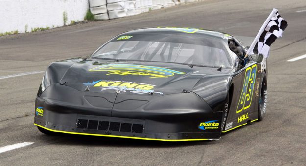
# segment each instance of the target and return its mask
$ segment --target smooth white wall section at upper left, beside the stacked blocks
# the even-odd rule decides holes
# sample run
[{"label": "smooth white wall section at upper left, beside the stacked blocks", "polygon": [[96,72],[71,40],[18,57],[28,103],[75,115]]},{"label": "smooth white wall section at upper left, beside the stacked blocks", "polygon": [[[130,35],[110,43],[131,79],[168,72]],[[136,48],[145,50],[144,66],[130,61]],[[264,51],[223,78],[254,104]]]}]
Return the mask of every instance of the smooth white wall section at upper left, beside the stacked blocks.
[{"label": "smooth white wall section at upper left, beside the stacked blocks", "polygon": [[68,21],[82,21],[88,10],[88,0],[0,0],[0,33],[31,28],[63,26],[63,12]]}]

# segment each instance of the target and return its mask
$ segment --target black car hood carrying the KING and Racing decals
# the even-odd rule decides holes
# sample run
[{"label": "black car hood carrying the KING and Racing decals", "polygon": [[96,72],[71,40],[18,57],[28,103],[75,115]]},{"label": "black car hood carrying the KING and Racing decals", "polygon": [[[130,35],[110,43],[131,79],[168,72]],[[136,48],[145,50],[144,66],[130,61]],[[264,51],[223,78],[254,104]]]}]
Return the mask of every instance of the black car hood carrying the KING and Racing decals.
[{"label": "black car hood carrying the KING and Racing decals", "polygon": [[212,67],[161,62],[115,62],[87,59],[72,64],[60,84],[79,91],[167,95],[190,92]]}]

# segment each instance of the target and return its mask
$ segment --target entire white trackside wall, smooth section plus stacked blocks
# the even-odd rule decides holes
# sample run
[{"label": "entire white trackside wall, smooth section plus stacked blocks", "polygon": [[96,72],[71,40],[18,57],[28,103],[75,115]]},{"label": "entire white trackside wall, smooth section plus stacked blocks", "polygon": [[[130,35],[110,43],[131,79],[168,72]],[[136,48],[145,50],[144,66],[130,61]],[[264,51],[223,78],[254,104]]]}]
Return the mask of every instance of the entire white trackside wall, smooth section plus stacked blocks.
[{"label": "entire white trackside wall, smooth section plus stacked blocks", "polygon": [[88,9],[95,19],[108,20],[197,1],[203,0],[0,0],[0,36],[63,26],[64,13],[69,25],[83,21]]}]

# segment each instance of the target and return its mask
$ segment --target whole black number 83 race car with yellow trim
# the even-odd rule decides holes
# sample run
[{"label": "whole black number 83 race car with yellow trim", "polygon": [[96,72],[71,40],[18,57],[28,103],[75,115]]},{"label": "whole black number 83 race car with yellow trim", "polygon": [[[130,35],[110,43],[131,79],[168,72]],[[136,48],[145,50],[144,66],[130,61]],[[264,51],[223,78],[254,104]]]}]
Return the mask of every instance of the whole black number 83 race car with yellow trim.
[{"label": "whole black number 83 race car with yellow trim", "polygon": [[34,125],[45,134],[218,140],[266,113],[266,59],[246,51],[211,30],[122,33],[91,56],[47,67]]}]

